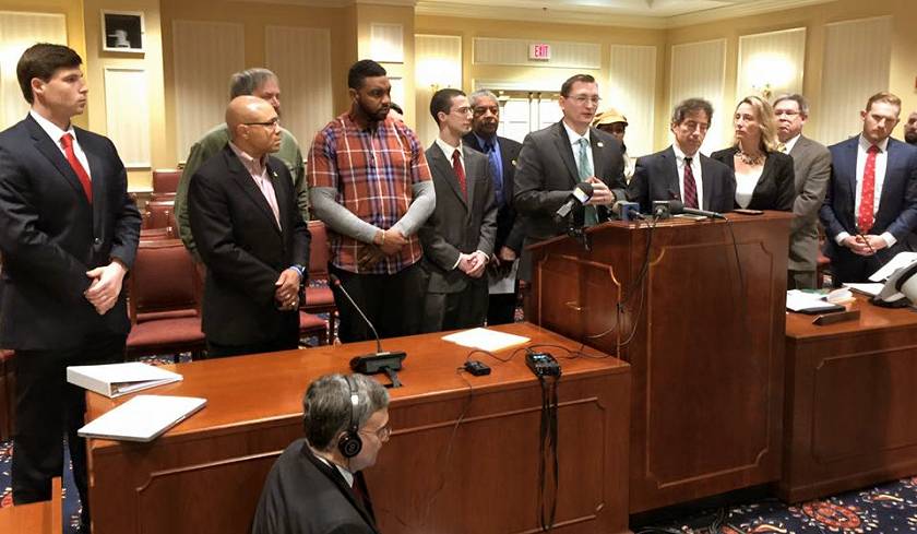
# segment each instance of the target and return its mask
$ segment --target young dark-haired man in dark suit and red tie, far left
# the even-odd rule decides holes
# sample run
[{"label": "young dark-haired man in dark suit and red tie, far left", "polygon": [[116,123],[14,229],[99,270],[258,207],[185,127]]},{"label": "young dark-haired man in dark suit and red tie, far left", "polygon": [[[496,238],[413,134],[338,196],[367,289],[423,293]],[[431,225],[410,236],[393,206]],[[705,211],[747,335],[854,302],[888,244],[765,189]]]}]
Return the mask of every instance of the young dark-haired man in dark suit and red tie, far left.
[{"label": "young dark-haired man in dark suit and red tie, far left", "polygon": [[16,66],[32,109],[0,133],[0,346],[16,352],[13,502],[51,498],[66,435],[87,529],[85,392],[66,368],[123,360],[141,219],[115,145],[71,123],[86,107],[81,64],[39,44]]}]

